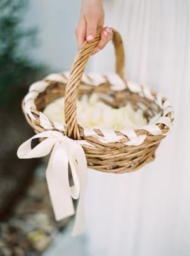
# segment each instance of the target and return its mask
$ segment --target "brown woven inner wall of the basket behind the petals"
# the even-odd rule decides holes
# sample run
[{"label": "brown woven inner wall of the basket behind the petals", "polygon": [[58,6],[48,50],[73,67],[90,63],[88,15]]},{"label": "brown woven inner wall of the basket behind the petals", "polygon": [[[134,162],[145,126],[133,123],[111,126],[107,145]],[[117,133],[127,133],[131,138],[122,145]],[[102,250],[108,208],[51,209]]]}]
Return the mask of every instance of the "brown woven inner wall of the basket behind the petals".
[{"label": "brown woven inner wall of the basket behind the petals", "polygon": [[[39,94],[35,99],[35,105],[37,111],[44,111],[46,105],[50,104],[57,98],[63,97],[65,94],[66,84],[51,81],[50,85],[45,91]],[[144,118],[147,119],[147,123],[156,114],[160,113],[162,109],[155,104],[153,100],[149,100],[146,97],[140,96],[137,93],[132,93],[130,90],[125,89],[122,91],[113,91],[110,89],[110,84],[105,83],[99,86],[91,86],[89,84],[80,84],[80,89],[78,93],[78,98],[82,95],[91,96],[92,93],[99,93],[99,100],[111,107],[119,108],[124,107],[128,103],[132,106],[134,111],[141,109],[143,111]],[[64,111],[64,110],[63,110]]]}]

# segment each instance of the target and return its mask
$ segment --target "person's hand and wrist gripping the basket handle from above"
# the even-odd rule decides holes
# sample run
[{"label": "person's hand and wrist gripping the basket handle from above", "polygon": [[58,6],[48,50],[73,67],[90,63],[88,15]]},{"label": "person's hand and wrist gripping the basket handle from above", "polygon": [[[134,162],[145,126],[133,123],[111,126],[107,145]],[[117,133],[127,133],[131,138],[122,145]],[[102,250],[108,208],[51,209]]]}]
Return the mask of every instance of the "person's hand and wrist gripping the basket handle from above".
[{"label": "person's hand and wrist gripping the basket handle from above", "polygon": [[[79,49],[85,40],[90,42],[94,39],[96,30],[103,27],[104,20],[103,0],[82,0],[79,22],[75,30]],[[93,53],[103,49],[111,38],[111,29],[105,27],[101,32],[101,41],[97,44]]]}]

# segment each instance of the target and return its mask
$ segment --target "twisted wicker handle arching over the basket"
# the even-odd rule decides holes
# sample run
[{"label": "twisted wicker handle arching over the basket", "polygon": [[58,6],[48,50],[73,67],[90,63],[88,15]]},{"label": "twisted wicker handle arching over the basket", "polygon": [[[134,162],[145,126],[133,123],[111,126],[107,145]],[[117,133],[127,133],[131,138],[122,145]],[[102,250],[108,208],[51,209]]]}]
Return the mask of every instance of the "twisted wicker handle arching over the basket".
[{"label": "twisted wicker handle arching over the basket", "polygon": [[[112,28],[111,28],[112,29]],[[77,53],[75,60],[72,64],[70,76],[68,77],[68,83],[65,88],[65,123],[66,123],[66,135],[75,140],[80,140],[79,124],[77,123],[77,94],[79,91],[79,84],[84,73],[85,65],[89,59],[92,51],[99,43],[101,38],[102,29],[98,29],[95,39],[89,43],[87,41],[82,44],[80,51]],[[125,68],[125,55],[124,55],[124,44],[122,37],[117,32],[113,31],[113,44],[115,47],[116,73],[122,78],[124,77]]]}]

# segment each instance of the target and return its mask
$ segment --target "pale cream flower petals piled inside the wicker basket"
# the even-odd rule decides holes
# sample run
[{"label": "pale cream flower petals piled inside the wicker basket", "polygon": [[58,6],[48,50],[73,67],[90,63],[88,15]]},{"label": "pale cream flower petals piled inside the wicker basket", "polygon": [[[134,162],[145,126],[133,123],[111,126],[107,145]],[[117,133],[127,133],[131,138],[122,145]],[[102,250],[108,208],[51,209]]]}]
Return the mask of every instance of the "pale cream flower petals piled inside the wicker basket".
[{"label": "pale cream flower petals piled inside the wicker basket", "polygon": [[[111,107],[99,100],[99,97],[101,94],[93,93],[90,97],[82,95],[80,100],[77,100],[77,116],[82,127],[101,126],[106,129],[124,130],[147,125],[142,109],[134,111],[130,103],[120,108]],[[63,107],[64,99],[61,97],[48,104],[44,109],[44,114],[47,118],[61,124],[65,122]]]}]

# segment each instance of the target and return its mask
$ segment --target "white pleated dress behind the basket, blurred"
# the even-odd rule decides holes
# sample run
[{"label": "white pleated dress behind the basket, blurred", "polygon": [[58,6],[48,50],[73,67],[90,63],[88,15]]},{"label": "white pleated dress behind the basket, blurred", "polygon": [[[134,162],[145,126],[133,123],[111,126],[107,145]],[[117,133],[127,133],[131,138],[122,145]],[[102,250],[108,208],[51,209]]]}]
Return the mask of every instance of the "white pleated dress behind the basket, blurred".
[{"label": "white pleated dress behind the basket, blurred", "polygon": [[[89,170],[86,194],[93,256],[190,255],[190,1],[105,1],[106,25],[123,37],[126,74],[162,92],[175,110],[174,127],[156,159],[134,173]],[[111,44],[91,71],[114,67]]]}]

